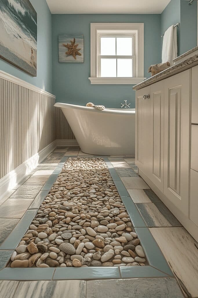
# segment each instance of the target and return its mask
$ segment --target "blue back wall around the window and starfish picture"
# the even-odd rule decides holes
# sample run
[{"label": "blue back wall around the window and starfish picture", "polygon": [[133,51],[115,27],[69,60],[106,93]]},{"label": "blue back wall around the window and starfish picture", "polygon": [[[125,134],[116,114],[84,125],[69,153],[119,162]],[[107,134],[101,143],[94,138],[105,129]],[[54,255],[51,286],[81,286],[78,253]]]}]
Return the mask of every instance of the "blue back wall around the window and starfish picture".
[{"label": "blue back wall around the window and starfish picture", "polygon": [[[135,107],[133,85],[91,85],[90,23],[144,23],[144,76],[160,63],[160,15],[62,14],[52,15],[53,94],[56,102],[85,105],[88,102],[119,108],[124,100]],[[58,63],[58,35],[84,35],[84,63]]]}]

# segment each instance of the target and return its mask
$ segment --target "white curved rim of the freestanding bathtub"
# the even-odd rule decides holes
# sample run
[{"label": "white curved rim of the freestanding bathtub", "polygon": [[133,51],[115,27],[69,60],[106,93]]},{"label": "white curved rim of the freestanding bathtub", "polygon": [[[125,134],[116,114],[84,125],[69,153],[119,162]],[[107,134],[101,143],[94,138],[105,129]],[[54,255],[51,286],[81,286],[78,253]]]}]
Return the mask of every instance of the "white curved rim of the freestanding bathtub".
[{"label": "white curved rim of the freestanding bathtub", "polygon": [[70,103],[55,103],[54,107],[57,108],[68,108],[68,109],[77,109],[77,110],[82,110],[82,111],[88,111],[88,112],[95,112],[95,113],[103,113],[103,114],[118,114],[118,115],[131,115],[135,114],[135,109],[134,110],[129,110],[129,109],[123,109],[116,110],[116,109],[111,109],[111,108],[105,108],[104,110],[99,110],[96,108],[91,108],[91,107],[86,107],[83,105],[72,105]]}]

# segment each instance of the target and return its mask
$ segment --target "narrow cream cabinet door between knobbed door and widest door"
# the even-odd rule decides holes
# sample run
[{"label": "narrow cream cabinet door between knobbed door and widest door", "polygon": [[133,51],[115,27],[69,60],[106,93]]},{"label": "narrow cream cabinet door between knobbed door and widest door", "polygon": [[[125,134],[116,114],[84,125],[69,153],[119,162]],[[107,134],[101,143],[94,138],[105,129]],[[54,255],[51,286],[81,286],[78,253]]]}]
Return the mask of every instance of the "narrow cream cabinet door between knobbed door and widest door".
[{"label": "narrow cream cabinet door between knobbed door and widest door", "polygon": [[151,173],[149,178],[163,192],[164,81],[151,85]]}]

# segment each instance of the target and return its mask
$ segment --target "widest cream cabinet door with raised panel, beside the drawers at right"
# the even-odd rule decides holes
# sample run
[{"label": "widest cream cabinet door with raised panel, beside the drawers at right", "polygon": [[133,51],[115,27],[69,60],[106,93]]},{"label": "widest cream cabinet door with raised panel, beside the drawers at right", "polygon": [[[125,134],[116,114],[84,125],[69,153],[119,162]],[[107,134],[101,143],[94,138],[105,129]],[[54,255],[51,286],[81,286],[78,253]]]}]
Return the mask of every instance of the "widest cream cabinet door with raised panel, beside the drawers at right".
[{"label": "widest cream cabinet door with raised panel, beside the drawers at right", "polygon": [[164,194],[189,214],[190,70],[164,80]]}]

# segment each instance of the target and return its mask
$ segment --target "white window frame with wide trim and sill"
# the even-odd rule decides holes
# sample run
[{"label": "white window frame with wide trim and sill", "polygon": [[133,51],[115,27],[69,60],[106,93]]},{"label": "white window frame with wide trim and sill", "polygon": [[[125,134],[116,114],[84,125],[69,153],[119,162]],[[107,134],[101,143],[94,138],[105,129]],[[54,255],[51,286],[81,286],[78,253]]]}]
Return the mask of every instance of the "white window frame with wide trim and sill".
[{"label": "white window frame with wide trim and sill", "polygon": [[[133,77],[100,77],[100,38],[101,36],[118,35],[131,35],[134,38]],[[123,58],[123,56],[121,57]],[[115,56],[115,58],[119,58],[119,56]],[[91,77],[89,77],[91,84],[138,84],[145,79],[144,23],[91,23]]]}]

